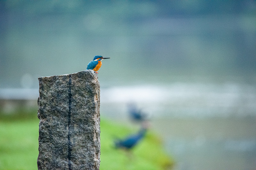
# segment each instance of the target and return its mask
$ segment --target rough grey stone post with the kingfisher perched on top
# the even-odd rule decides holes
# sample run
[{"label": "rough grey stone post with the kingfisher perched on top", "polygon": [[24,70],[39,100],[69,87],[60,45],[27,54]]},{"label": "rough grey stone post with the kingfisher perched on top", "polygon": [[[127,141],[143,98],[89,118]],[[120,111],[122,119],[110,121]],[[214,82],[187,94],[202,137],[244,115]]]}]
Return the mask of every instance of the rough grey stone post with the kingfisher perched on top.
[{"label": "rough grey stone post with the kingfisher perched on top", "polygon": [[100,168],[100,83],[93,70],[39,77],[38,169]]}]

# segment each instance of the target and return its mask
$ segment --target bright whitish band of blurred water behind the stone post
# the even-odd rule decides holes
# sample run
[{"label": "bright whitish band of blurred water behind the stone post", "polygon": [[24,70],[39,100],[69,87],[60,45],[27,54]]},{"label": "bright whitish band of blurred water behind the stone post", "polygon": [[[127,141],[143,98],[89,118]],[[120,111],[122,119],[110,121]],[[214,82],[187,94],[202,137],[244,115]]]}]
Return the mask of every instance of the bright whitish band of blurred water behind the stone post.
[{"label": "bright whitish band of blurred water behind the stone post", "polygon": [[[38,89],[0,89],[0,107],[37,106]],[[256,89],[251,84],[203,84],[113,86],[101,88],[101,110],[109,116],[125,115],[126,104],[137,103],[154,117],[256,116]],[[118,105],[118,107],[107,106]]]}]

